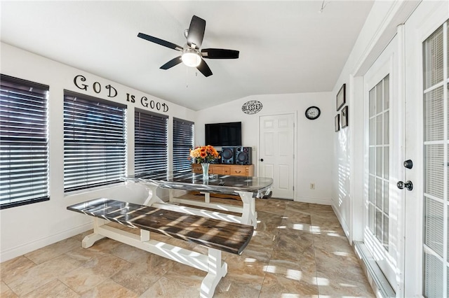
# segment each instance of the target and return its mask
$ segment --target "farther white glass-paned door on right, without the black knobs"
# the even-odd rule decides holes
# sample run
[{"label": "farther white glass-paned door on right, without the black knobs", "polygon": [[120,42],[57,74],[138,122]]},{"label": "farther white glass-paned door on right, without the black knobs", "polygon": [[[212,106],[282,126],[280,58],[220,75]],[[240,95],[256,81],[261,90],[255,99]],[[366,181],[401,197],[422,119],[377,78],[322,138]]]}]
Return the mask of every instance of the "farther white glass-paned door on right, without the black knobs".
[{"label": "farther white glass-paned door on right, without the black knobs", "polygon": [[363,242],[384,276],[397,290],[398,214],[401,195],[396,177],[401,171],[403,128],[398,100],[398,38],[384,49],[364,76],[365,212]]}]

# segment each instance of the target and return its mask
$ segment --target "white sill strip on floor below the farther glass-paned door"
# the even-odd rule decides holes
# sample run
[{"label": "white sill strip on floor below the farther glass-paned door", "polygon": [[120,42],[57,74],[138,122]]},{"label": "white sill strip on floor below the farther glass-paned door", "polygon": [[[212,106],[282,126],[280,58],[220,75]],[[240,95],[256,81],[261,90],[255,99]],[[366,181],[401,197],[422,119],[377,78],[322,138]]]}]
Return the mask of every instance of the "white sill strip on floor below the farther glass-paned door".
[{"label": "white sill strip on floor below the farther glass-paned door", "polygon": [[366,245],[361,241],[354,241],[352,248],[356,253],[358,262],[360,263],[363,272],[368,278],[371,288],[376,297],[396,297],[396,293],[387,281],[379,266],[375,262],[373,256],[369,253]]}]

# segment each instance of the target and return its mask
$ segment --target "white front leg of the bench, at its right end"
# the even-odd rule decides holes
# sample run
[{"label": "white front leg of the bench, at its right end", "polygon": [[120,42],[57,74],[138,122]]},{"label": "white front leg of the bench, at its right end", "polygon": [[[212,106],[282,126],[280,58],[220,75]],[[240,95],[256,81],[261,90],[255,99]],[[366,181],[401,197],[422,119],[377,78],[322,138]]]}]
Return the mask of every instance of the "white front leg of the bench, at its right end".
[{"label": "white front leg of the bench, at its right end", "polygon": [[215,248],[209,248],[208,250],[208,274],[201,283],[201,298],[213,297],[215,288],[217,288],[221,278],[227,274],[227,263],[222,262],[222,252]]}]

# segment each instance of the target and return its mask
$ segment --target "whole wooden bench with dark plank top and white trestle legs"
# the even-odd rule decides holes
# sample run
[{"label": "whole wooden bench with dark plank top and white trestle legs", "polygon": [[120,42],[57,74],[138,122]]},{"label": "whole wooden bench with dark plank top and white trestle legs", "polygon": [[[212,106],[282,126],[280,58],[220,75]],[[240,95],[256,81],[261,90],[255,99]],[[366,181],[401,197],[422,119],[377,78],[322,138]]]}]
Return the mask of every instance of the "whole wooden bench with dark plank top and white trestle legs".
[{"label": "whole wooden bench with dark plank top and white trestle legs", "polygon": [[[208,274],[203,278],[199,291],[199,296],[205,298],[213,297],[217,284],[227,274],[227,264],[222,262],[222,251],[241,254],[254,231],[252,225],[243,225],[239,222],[217,220],[113,199],[93,199],[68,206],[67,209],[93,216],[93,234],[84,237],[83,248],[89,248],[95,241],[107,237],[206,271]],[[110,227],[106,225],[107,222],[118,222],[126,227],[140,229],[140,236]],[[208,254],[196,253],[150,239],[151,232],[206,246]]]}]

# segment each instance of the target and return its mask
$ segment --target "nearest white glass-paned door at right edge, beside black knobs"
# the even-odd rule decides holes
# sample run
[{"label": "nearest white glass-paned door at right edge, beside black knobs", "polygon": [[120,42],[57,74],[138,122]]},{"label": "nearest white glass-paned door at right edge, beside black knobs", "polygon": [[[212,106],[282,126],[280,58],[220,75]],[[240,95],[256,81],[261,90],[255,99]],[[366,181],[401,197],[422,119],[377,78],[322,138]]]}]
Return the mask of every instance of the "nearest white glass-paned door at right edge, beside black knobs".
[{"label": "nearest white glass-paned door at right edge, beside black knobs", "polygon": [[448,297],[449,1],[422,1],[406,29],[405,296]]}]

